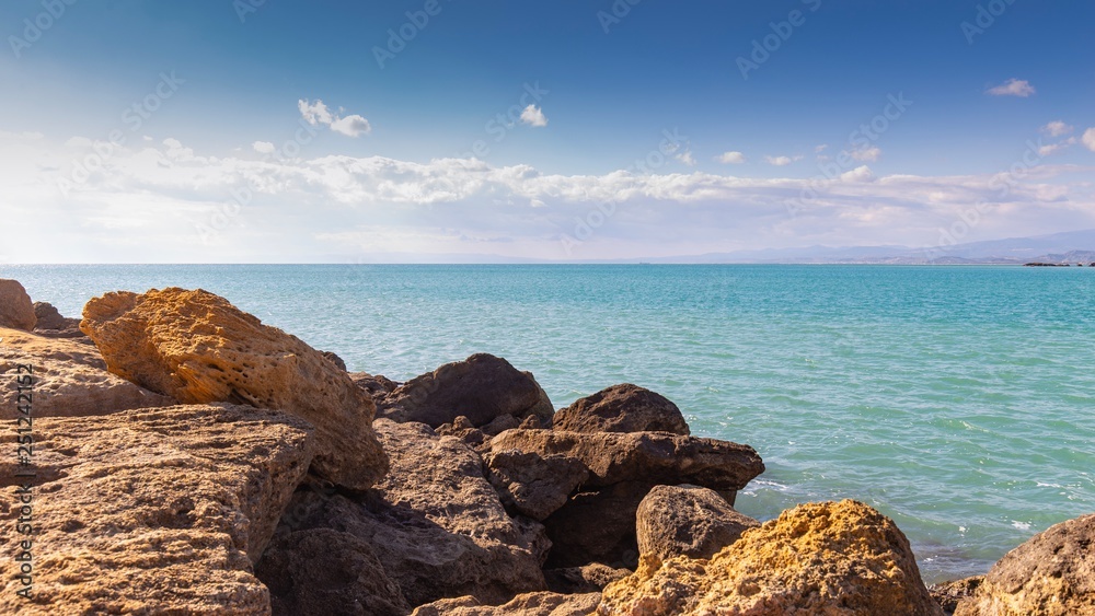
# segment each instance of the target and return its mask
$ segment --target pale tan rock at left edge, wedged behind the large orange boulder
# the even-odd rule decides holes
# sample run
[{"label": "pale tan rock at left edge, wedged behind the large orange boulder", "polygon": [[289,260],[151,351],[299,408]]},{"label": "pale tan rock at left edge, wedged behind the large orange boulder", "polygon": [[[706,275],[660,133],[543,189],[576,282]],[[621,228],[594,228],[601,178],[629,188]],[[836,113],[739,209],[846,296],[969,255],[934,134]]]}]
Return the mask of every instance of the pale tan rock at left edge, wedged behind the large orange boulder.
[{"label": "pale tan rock at left edge, wedged behind the large orange boulder", "polygon": [[[107,372],[94,347],[0,328],[0,382],[14,383],[20,365],[34,371],[34,417],[108,415],[178,404]],[[0,419],[19,415],[18,396],[14,386],[0,387]]]}]

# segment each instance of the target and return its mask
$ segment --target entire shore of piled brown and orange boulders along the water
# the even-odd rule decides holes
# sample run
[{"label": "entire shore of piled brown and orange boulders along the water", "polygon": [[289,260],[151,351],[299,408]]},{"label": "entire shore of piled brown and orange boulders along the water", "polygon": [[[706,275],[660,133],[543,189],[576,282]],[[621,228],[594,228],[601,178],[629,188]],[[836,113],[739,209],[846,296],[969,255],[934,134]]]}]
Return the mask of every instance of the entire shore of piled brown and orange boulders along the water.
[{"label": "entire shore of piled brown and orange boulders along the water", "polygon": [[930,590],[864,503],[736,511],[761,456],[655,392],[556,410],[489,355],[348,373],[201,290],[77,321],[0,280],[0,383],[33,441],[0,457],[5,612],[1095,614],[1095,515]]}]

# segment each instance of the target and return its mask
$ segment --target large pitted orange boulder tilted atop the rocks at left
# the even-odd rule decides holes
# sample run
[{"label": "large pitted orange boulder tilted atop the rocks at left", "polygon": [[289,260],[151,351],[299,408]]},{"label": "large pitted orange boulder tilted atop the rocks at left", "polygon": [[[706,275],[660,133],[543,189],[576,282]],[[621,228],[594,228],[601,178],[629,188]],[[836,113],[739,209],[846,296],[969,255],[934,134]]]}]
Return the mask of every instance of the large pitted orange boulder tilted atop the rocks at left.
[{"label": "large pitted orange boulder tilted atop the rocks at left", "polygon": [[263,325],[223,298],[172,288],[107,293],[80,328],[111,372],[187,404],[274,408],[315,427],[315,470],[353,489],[373,485],[388,458],[372,431],[374,405],[322,353]]}]

